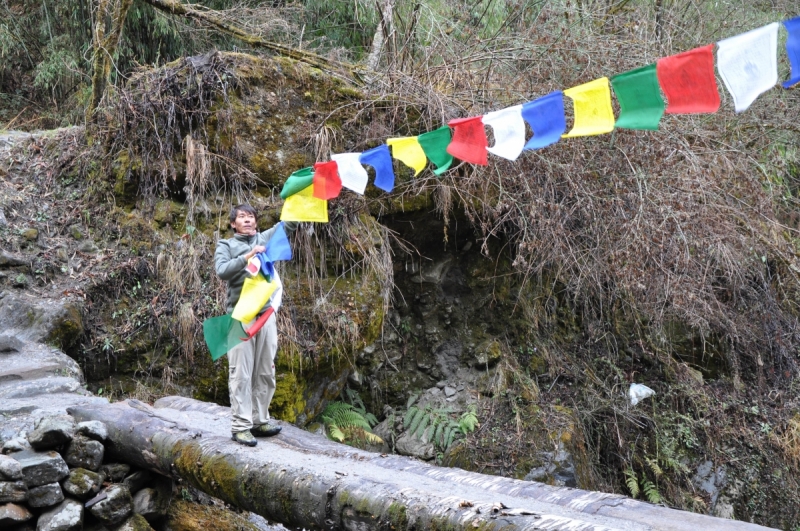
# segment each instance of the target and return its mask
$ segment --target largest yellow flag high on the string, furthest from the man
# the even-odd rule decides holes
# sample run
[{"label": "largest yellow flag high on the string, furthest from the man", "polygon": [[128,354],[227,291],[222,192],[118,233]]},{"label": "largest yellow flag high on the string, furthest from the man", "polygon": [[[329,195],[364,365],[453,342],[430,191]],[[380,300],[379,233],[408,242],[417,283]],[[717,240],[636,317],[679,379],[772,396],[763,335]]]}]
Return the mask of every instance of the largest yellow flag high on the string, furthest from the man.
[{"label": "largest yellow flag high on the string, furthest from the man", "polygon": [[614,130],[611,88],[608,78],[601,77],[564,91],[575,105],[575,123],[564,138],[593,136]]}]

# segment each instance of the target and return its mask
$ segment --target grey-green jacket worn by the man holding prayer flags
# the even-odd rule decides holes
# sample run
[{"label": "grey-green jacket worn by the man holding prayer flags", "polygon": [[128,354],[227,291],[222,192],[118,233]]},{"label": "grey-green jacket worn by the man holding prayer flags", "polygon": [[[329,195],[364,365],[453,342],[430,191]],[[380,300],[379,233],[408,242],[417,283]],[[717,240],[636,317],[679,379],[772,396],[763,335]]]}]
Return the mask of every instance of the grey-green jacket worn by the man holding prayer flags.
[{"label": "grey-green jacket worn by the man holding prayer flags", "polygon": [[[283,225],[287,236],[291,235],[297,228],[296,222],[287,221]],[[239,302],[242,285],[247,278],[247,272],[244,269],[247,266],[247,259],[244,255],[249,253],[256,245],[266,247],[267,242],[275,234],[276,228],[277,225],[253,236],[234,234],[232,238],[217,242],[217,250],[214,252],[214,269],[217,271],[217,276],[228,284],[228,313],[231,313],[236,303]],[[269,303],[277,310],[283,297],[283,284],[277,271],[275,272],[275,280],[278,281],[278,289],[270,297]]]}]

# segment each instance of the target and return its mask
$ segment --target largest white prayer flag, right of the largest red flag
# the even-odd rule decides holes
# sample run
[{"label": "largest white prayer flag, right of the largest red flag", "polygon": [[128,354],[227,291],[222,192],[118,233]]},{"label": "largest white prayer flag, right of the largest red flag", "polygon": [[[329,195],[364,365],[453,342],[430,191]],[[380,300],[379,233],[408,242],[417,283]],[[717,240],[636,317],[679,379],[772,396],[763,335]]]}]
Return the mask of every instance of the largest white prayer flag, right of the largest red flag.
[{"label": "largest white prayer flag, right of the largest red flag", "polygon": [[717,69],[736,112],[778,83],[778,28],[773,22],[717,43]]}]

